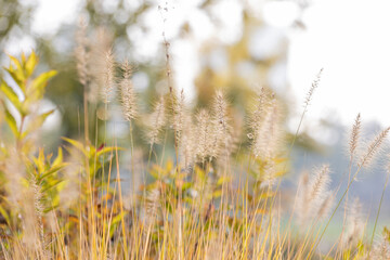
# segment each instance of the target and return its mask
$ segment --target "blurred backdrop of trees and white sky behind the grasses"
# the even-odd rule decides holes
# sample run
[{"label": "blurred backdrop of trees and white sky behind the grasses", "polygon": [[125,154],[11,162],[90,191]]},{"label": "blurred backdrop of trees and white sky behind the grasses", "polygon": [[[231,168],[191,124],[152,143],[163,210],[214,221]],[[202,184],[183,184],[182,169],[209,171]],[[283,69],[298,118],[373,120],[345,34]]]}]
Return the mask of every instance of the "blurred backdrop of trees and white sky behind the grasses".
[{"label": "blurred backdrop of trees and white sky behind the grasses", "polygon": [[[6,66],[5,53],[34,49],[40,70],[60,72],[43,104],[56,107],[44,126],[49,150],[60,136],[76,138],[80,131],[82,87],[74,55],[80,17],[87,34],[108,36],[118,62],[130,61],[146,109],[153,95],[167,91],[162,32],[170,43],[173,84],[192,106],[206,105],[213,90],[223,88],[232,105],[244,110],[253,90],[268,87],[286,104],[286,129],[292,134],[311,82],[324,68],[285,185],[322,162],[330,164],[337,185],[348,169],[346,132],[358,113],[367,138],[390,126],[389,12],[387,0],[0,0],[0,60]],[[115,134],[126,135],[126,127],[117,125]],[[351,191],[372,207],[369,212],[377,210],[384,164],[360,174]],[[388,192],[379,230],[390,220],[389,198]]]}]

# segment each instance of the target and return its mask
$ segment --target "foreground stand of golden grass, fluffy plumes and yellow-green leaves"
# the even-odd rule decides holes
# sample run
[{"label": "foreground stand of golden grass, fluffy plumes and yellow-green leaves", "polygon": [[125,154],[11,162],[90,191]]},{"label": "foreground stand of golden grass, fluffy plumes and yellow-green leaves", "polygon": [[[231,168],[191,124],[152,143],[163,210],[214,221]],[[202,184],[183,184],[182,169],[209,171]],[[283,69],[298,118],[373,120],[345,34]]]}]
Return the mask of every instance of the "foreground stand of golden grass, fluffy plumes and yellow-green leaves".
[{"label": "foreground stand of golden grass, fluffy plumes and yellow-green leaves", "polygon": [[[368,206],[349,195],[361,170],[384,153],[390,128],[363,142],[356,116],[349,167],[340,170],[346,174],[336,188],[332,165],[301,172],[294,191],[281,185],[292,171],[291,152],[322,70],[308,87],[296,132],[287,133],[286,107],[266,88],[243,104],[245,115],[222,89],[209,105],[190,106],[171,83],[168,42],[167,90],[154,93],[152,109],[145,109],[131,62],[119,64],[96,42],[80,30],[80,136],[64,136],[54,153],[39,145],[54,110],[39,105],[56,72],[38,74],[34,52],[10,56],[3,68],[1,259],[390,258],[390,232],[377,229],[384,196],[367,232]],[[121,110],[113,108],[118,104]],[[128,126],[125,141],[107,134],[113,115]],[[389,168],[384,172],[387,181],[377,187],[382,194]],[[334,240],[321,249],[329,231]]]}]

